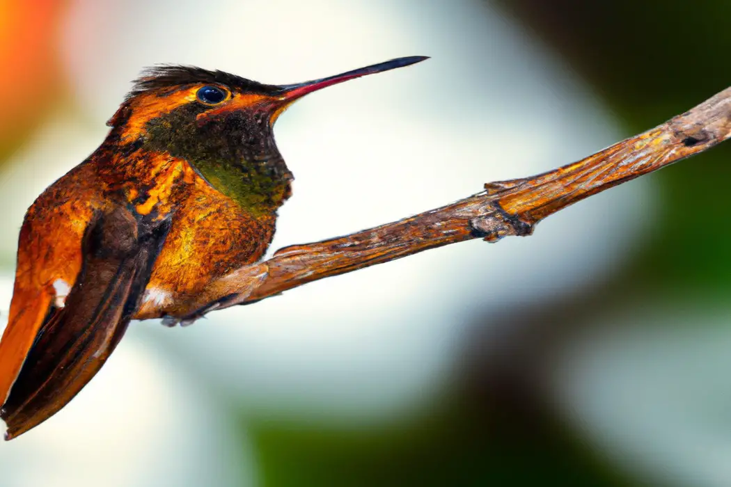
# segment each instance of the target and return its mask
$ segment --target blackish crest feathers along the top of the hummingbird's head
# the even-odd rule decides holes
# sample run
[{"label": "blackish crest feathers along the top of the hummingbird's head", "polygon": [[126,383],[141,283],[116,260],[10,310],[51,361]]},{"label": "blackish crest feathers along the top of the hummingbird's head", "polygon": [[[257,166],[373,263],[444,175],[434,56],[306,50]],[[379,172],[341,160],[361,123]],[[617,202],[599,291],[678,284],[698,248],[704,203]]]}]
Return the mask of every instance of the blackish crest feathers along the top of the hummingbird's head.
[{"label": "blackish crest feathers along the top of the hummingbird's head", "polygon": [[279,91],[276,85],[265,85],[256,81],[236,76],[219,70],[202,69],[196,66],[178,64],[161,64],[145,69],[137,78],[129,92],[128,98],[137,96],[145,91],[174,88],[196,83],[215,83],[225,85],[230,89],[253,91],[262,94],[274,94]]}]

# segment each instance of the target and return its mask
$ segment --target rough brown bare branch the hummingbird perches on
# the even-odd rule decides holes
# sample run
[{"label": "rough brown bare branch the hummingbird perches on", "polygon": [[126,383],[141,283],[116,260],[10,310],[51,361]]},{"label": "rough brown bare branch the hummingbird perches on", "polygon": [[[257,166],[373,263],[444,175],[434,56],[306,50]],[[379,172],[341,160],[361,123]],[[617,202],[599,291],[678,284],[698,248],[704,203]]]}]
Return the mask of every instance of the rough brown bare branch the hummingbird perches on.
[{"label": "rough brown bare branch the hummingbird perches on", "polygon": [[[278,250],[165,310],[168,323],[249,304],[288,289],[474,238],[530,235],[536,223],[615,185],[693,156],[731,137],[731,88],[655,129],[542,175],[485,185],[458,202],[374,229]],[[159,318],[145,315],[137,318]],[[172,318],[177,317],[177,318]]]}]

